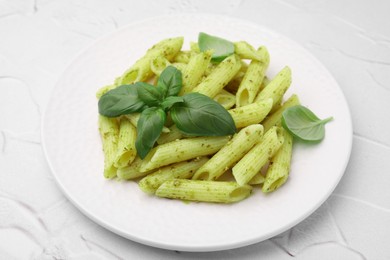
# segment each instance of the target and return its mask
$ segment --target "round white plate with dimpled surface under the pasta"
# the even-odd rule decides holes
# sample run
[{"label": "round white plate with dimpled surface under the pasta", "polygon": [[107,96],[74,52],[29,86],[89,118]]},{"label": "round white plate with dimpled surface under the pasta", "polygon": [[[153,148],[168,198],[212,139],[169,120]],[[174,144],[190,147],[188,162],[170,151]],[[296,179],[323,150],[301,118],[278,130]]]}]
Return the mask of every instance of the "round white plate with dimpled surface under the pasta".
[{"label": "round white plate with dimpled surface under the pasta", "polygon": [[[318,145],[297,144],[291,175],[277,192],[256,190],[232,204],[183,203],[143,193],[135,182],[103,177],[95,92],[110,84],[148,47],[184,36],[184,49],[199,32],[266,45],[268,76],[292,69],[288,95],[320,118],[334,116]],[[342,91],[330,73],[297,43],[242,20],[211,15],[172,15],[127,26],[82,52],[54,88],[43,119],[47,160],[65,195],[88,217],[131,240],[165,249],[214,251],[253,244],[296,225],[334,190],[347,165],[352,125]]]}]

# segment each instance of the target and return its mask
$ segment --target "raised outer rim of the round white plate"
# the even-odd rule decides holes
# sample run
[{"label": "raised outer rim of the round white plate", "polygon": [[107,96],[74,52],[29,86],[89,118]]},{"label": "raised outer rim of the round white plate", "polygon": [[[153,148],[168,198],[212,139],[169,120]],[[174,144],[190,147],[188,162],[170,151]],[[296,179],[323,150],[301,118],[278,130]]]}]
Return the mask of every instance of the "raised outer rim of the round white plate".
[{"label": "raised outer rim of the round white plate", "polygon": [[[46,122],[47,108],[48,108],[48,106],[50,104],[51,97],[53,96],[53,93],[57,90],[57,88],[58,88],[57,86],[59,85],[59,82],[61,81],[62,76],[69,69],[69,67],[71,67],[79,59],[79,57],[83,55],[83,53],[85,53],[88,49],[90,49],[92,46],[96,45],[100,41],[102,41],[102,40],[104,40],[106,38],[109,38],[112,35],[118,34],[121,31],[124,31],[124,30],[126,30],[126,29],[128,29],[130,27],[137,26],[137,25],[140,25],[140,24],[143,24],[143,23],[147,23],[147,22],[151,22],[153,20],[161,20],[161,19],[164,19],[164,18],[172,18],[172,17],[186,17],[187,19],[189,17],[221,18],[221,19],[224,19],[224,20],[227,20],[227,21],[237,21],[237,22],[240,22],[240,23],[249,24],[249,25],[251,25],[253,27],[261,28],[262,30],[271,32],[271,33],[273,33],[273,34],[275,34],[277,36],[281,36],[282,38],[287,39],[287,40],[289,40],[291,42],[294,42],[300,48],[304,49],[305,53],[308,56],[310,56],[310,58],[314,62],[316,62],[317,65],[319,65],[324,71],[326,71],[327,74],[328,74],[327,76],[331,77],[332,80],[336,83],[338,91],[340,92],[339,94],[341,95],[340,97],[342,98],[342,101],[345,104],[345,109],[346,109],[345,112],[347,113],[347,116],[348,116],[347,117],[348,121],[346,122],[346,125],[348,126],[348,132],[349,132],[349,136],[348,136],[349,138],[346,140],[346,144],[348,146],[347,147],[348,153],[346,153],[344,155],[345,159],[343,160],[342,169],[340,169],[342,171],[342,173],[338,175],[337,180],[336,179],[334,180],[333,187],[329,188],[328,192],[326,193],[326,196],[323,196],[322,199],[317,202],[317,204],[313,205],[310,210],[305,212],[305,214],[301,214],[299,218],[296,218],[294,221],[288,222],[285,225],[281,226],[280,228],[278,228],[276,230],[273,230],[272,232],[268,232],[265,235],[254,237],[254,238],[249,238],[249,239],[246,239],[246,240],[240,240],[240,242],[233,241],[231,243],[223,243],[223,244],[220,244],[220,245],[214,245],[213,244],[213,245],[202,246],[202,247],[199,247],[199,246],[185,246],[185,245],[172,245],[172,244],[169,244],[169,243],[164,243],[164,241],[157,242],[157,241],[153,241],[153,240],[150,240],[150,239],[145,239],[143,237],[133,236],[133,235],[131,235],[129,233],[126,233],[126,232],[122,232],[120,229],[117,229],[115,227],[115,225],[111,225],[110,223],[107,223],[106,221],[102,220],[101,218],[97,217],[93,213],[91,213],[88,210],[86,210],[85,208],[83,208],[82,205],[80,205],[76,201],[76,199],[73,198],[73,196],[70,194],[70,192],[68,192],[66,187],[64,187],[64,185],[60,182],[57,174],[54,171],[54,167],[52,165],[52,161],[50,160],[50,155],[48,154],[48,151],[46,149],[45,122]],[[169,15],[152,16],[152,17],[136,20],[134,22],[128,23],[126,25],[123,25],[123,26],[117,28],[116,30],[114,30],[114,31],[112,31],[112,32],[110,32],[108,34],[104,34],[101,37],[98,37],[97,39],[93,40],[90,44],[87,44],[86,47],[81,48],[81,50],[79,52],[77,52],[76,55],[72,59],[70,59],[68,64],[60,72],[57,81],[55,82],[53,88],[50,91],[49,99],[48,99],[48,102],[46,104],[46,107],[43,110],[40,127],[41,127],[40,137],[41,137],[41,142],[42,142],[42,150],[43,150],[46,162],[47,162],[47,164],[49,166],[50,172],[51,172],[51,174],[54,177],[55,183],[60,188],[60,190],[63,193],[63,195],[72,203],[72,205],[74,205],[81,213],[83,213],[84,216],[88,217],[89,219],[94,221],[99,226],[102,226],[105,229],[107,229],[107,230],[109,230],[109,231],[111,231],[111,232],[113,232],[113,233],[115,233],[115,234],[117,234],[117,235],[119,235],[121,237],[124,237],[126,239],[130,239],[133,242],[137,242],[137,243],[141,243],[141,244],[144,244],[144,245],[148,245],[148,246],[152,246],[152,247],[156,247],[156,248],[161,248],[161,249],[178,250],[178,251],[184,251],[184,252],[213,252],[213,251],[221,251],[221,250],[240,248],[240,247],[244,247],[244,246],[248,246],[248,245],[252,245],[252,244],[255,244],[255,243],[259,243],[259,242],[265,241],[265,240],[267,240],[267,239],[269,239],[271,237],[274,237],[275,235],[278,235],[278,234],[280,234],[280,233],[282,233],[282,232],[284,232],[284,231],[286,231],[286,230],[296,226],[297,224],[302,222],[304,219],[309,217],[327,199],[329,199],[330,195],[333,193],[333,191],[335,190],[337,185],[340,183],[340,180],[342,179],[342,177],[345,174],[346,168],[347,168],[348,163],[350,161],[350,156],[351,156],[351,153],[352,153],[352,146],[353,146],[352,117],[351,117],[351,112],[350,112],[350,108],[349,108],[347,99],[345,98],[345,94],[344,94],[342,88],[340,87],[340,84],[337,82],[337,80],[334,78],[334,76],[330,73],[330,71],[327,69],[327,67],[325,67],[325,65],[323,65],[323,63],[320,62],[320,60],[316,56],[314,56],[314,54],[312,54],[312,52],[310,52],[305,46],[303,46],[302,44],[298,43],[297,41],[292,40],[288,36],[285,36],[284,34],[279,33],[278,31],[276,31],[274,29],[270,29],[270,28],[268,28],[266,26],[263,26],[262,24],[255,23],[255,22],[247,20],[247,19],[230,17],[230,16],[227,16],[227,15],[213,14],[213,13],[186,13],[186,12],[183,12],[183,13],[180,13],[180,14],[169,14]]]}]

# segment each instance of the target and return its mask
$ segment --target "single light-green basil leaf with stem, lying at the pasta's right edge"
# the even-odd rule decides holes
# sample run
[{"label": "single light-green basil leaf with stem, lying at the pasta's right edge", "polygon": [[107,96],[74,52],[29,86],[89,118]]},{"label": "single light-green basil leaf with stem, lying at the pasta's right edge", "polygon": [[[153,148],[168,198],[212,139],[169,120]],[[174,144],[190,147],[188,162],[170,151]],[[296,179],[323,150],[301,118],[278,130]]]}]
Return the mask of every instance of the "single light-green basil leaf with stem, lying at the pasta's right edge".
[{"label": "single light-green basil leaf with stem, lying at the pasta's right edge", "polygon": [[310,109],[304,106],[287,108],[282,114],[282,126],[294,137],[304,141],[318,142],[325,136],[325,124],[333,117],[319,119]]}]

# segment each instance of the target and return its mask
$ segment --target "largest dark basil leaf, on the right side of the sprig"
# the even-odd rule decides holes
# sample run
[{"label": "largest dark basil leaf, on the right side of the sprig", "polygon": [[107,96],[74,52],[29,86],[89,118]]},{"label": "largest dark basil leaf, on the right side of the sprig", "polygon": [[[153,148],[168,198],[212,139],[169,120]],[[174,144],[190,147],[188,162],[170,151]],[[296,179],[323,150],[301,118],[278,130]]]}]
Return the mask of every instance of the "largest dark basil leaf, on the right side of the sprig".
[{"label": "largest dark basil leaf, on the right side of the sprig", "polygon": [[223,136],[236,132],[233,118],[219,103],[200,93],[183,96],[184,102],[171,108],[177,128],[187,135]]}]

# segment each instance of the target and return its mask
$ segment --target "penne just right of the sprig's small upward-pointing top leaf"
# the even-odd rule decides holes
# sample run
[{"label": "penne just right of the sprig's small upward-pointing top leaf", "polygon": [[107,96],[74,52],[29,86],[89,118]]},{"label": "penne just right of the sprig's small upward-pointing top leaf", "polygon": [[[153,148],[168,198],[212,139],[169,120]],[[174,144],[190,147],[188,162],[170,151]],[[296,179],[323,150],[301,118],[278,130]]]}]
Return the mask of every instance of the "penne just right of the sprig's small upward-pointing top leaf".
[{"label": "penne just right of the sprig's small upward-pointing top leaf", "polygon": [[191,92],[199,84],[208,68],[211,54],[211,51],[206,51],[191,56],[186,68],[182,71],[183,86],[179,96]]}]

